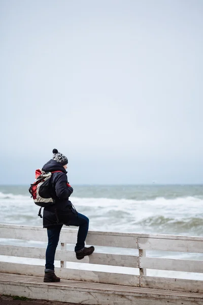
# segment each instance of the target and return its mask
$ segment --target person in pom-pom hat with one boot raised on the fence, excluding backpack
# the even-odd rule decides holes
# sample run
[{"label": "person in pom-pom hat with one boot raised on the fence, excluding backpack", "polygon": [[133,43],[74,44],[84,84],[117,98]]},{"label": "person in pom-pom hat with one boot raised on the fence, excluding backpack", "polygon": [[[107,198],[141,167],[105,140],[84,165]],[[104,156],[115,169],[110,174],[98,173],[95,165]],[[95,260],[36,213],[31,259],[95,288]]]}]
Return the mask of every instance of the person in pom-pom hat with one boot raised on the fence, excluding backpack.
[{"label": "person in pom-pom hat with one boot raised on the fence, excluding backpack", "polygon": [[43,212],[43,227],[47,228],[48,235],[44,282],[60,282],[60,278],[54,273],[54,257],[63,225],[79,227],[75,247],[77,259],[83,259],[94,252],[93,246],[85,247],[89,219],[78,213],[69,200],[73,188],[67,181],[67,163],[67,158],[57,149],[53,149],[53,158],[42,168],[45,172],[52,172],[52,198],[54,199],[54,204],[45,207]]}]

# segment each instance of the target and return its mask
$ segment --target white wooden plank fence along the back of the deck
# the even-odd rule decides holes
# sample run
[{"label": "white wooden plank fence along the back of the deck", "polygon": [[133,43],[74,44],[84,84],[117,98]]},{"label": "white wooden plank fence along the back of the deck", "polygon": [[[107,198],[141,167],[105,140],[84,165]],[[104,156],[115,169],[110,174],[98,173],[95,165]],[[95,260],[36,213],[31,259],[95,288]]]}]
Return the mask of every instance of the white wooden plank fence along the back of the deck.
[{"label": "white wooden plank fence along the back of the deck", "polygon": [[[77,229],[61,230],[59,240],[61,250],[57,250],[55,255],[55,260],[59,260],[61,263],[60,268],[55,268],[55,270],[57,276],[62,279],[185,292],[203,292],[203,281],[149,277],[146,275],[146,269],[202,273],[203,261],[146,257],[146,250],[203,253],[203,237],[89,231],[86,238],[87,245],[138,249],[139,255],[95,252],[91,256],[78,261],[75,252],[66,250],[67,243],[76,243],[77,232]],[[41,227],[0,224],[0,237],[47,242],[47,230]],[[0,255],[45,259],[45,249],[0,245]],[[89,263],[138,268],[140,275],[71,269],[66,268],[66,262],[80,262],[83,263],[82,265]],[[42,277],[44,267],[33,264],[0,262],[0,272]]]}]

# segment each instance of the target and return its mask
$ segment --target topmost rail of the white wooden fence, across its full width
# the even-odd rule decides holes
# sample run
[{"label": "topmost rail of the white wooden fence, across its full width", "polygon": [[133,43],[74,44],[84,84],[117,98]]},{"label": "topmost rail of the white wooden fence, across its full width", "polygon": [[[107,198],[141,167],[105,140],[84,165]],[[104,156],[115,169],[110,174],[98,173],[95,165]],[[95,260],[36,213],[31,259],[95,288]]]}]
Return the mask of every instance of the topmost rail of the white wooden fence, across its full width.
[{"label": "topmost rail of the white wooden fence, across its full width", "polygon": [[[0,227],[0,237],[2,238],[47,241],[46,229],[40,227],[14,225],[1,225]],[[77,240],[77,232],[78,231],[74,229],[61,230],[60,242],[75,243]],[[86,243],[94,246],[138,249],[138,239],[134,235],[135,234],[119,232],[89,231]],[[190,236],[187,237],[188,239],[180,238],[183,238],[183,236],[179,236],[179,239],[139,237],[139,249],[203,253],[203,238],[202,241],[200,241],[200,239],[190,240]]]}]

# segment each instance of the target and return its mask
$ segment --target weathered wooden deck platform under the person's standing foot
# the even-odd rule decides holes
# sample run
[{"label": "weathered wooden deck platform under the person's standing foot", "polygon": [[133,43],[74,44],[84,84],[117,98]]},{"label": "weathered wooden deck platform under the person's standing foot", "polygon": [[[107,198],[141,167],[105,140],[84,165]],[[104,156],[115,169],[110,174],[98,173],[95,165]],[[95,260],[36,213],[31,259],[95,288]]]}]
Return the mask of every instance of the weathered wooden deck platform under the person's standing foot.
[{"label": "weathered wooden deck platform under the person's standing foot", "polygon": [[203,294],[142,289],[122,285],[65,281],[0,274],[0,293],[53,301],[103,305],[203,305]]}]

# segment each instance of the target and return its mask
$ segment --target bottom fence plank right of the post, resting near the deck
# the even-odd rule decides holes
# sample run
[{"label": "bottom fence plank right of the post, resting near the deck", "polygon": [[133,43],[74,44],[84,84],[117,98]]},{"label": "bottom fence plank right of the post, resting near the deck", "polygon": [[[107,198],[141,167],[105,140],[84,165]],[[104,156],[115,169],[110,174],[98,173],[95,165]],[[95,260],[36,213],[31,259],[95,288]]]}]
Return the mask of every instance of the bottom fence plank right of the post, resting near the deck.
[{"label": "bottom fence plank right of the post, resting near the deck", "polygon": [[143,288],[203,293],[203,281],[196,280],[142,276],[140,277],[140,286]]}]

